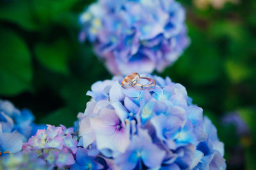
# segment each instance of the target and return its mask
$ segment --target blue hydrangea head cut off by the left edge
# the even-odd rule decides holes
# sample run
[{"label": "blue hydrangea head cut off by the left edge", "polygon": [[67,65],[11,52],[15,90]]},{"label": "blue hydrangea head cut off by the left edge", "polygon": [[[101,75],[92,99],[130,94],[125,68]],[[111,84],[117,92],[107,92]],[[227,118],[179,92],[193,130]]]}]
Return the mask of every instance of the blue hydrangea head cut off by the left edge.
[{"label": "blue hydrangea head cut off by the left edge", "polygon": [[34,119],[29,110],[18,110],[10,101],[0,99],[0,155],[19,152],[23,141],[44,129],[44,125],[35,125]]}]

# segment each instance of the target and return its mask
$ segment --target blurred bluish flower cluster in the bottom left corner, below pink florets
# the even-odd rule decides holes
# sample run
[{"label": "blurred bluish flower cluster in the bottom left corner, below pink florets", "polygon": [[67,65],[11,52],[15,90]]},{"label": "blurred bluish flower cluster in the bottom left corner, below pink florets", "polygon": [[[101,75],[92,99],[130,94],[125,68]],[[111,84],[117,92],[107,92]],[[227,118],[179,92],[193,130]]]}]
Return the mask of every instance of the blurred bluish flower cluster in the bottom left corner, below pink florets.
[{"label": "blurred bluish flower cluster in the bottom left corner, below pink florets", "polygon": [[43,159],[36,157],[36,153],[25,154],[22,152],[11,153],[0,158],[0,170],[4,169],[42,169],[50,170],[50,166]]}]

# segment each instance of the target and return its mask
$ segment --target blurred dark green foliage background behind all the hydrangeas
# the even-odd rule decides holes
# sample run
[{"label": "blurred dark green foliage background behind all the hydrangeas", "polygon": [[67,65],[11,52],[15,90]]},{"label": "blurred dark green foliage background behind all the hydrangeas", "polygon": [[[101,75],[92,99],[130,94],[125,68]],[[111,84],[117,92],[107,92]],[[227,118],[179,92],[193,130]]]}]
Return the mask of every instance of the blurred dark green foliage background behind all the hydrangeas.
[{"label": "blurred dark green foliage background behind all the hydrangeas", "polygon": [[[36,122],[72,126],[92,83],[110,79],[78,15],[91,0],[0,1],[0,98]],[[180,1],[191,45],[160,76],[181,83],[212,119],[228,169],[256,169],[256,1]],[[254,141],[254,142],[253,142]]]}]

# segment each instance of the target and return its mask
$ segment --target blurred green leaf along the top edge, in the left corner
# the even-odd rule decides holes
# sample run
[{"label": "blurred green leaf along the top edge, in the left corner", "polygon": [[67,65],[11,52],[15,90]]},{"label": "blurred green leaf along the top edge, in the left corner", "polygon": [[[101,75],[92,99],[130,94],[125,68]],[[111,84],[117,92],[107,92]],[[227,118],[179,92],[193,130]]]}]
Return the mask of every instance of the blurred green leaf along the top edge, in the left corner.
[{"label": "blurred green leaf along the top edge, in the left corner", "polygon": [[[29,31],[49,27],[52,22],[77,26],[72,8],[79,0],[19,0],[1,2],[0,20],[13,22]],[[72,17],[72,18],[70,18]],[[69,23],[65,22],[68,21]]]}]

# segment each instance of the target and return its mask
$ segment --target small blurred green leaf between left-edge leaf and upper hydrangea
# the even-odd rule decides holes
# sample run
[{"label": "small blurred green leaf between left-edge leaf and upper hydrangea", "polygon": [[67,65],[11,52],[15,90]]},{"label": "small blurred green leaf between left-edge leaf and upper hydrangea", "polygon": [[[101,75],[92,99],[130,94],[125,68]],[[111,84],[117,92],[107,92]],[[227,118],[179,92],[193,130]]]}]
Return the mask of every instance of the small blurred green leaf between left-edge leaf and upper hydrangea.
[{"label": "small blurred green leaf between left-edge leaf and upper hydrangea", "polygon": [[59,40],[52,44],[39,43],[35,46],[36,59],[48,69],[56,73],[69,74],[68,43]]}]

